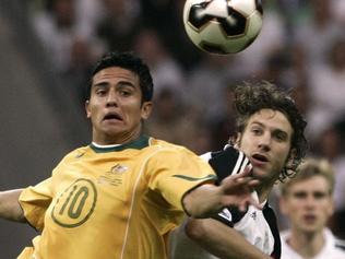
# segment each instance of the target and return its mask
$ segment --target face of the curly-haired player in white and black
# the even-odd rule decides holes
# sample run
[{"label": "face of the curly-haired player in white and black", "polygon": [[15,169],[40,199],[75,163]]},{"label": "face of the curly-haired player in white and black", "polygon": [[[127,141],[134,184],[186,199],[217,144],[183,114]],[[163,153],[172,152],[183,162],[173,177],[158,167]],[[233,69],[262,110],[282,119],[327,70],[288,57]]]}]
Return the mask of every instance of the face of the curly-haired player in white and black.
[{"label": "face of the curly-haired player in white and black", "polygon": [[285,166],[293,128],[286,116],[277,110],[261,109],[253,114],[237,139],[237,148],[253,165],[253,176],[262,185],[273,185]]}]

